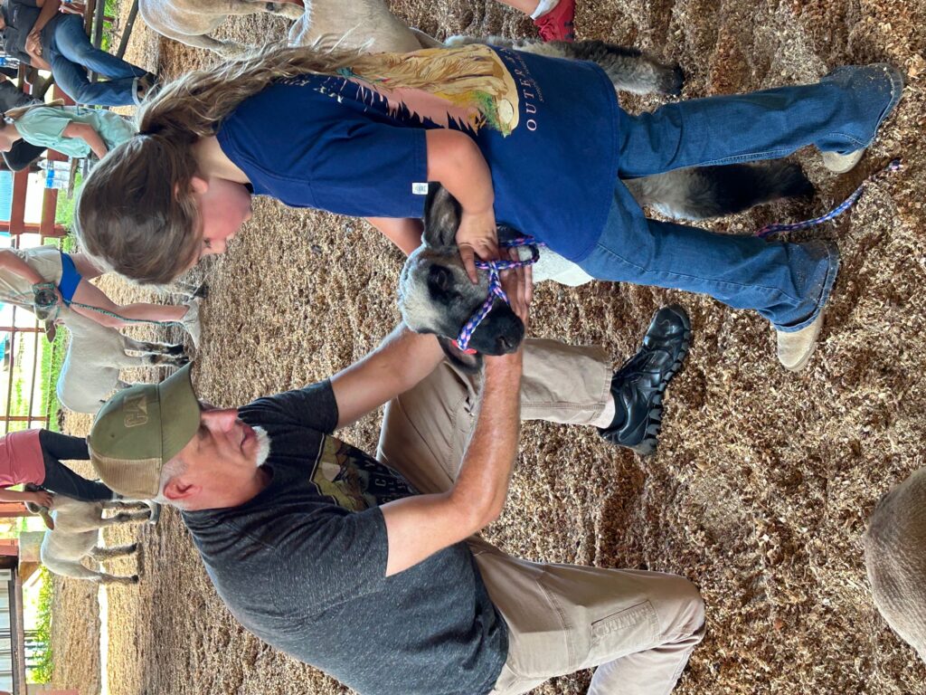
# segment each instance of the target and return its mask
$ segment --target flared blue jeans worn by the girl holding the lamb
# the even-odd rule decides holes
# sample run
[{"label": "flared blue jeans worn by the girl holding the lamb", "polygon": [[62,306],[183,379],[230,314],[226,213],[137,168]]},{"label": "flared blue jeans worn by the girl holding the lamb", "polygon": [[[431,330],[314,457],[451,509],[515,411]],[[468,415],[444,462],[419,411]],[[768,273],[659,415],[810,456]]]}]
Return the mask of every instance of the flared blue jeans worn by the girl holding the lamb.
[{"label": "flared blue jeans worn by the girl holding the lamb", "polygon": [[[870,145],[900,98],[890,66],[833,70],[816,84],[713,96],[631,116],[621,112],[622,178],[784,157],[805,145],[846,154]],[[783,332],[813,322],[830,296],[838,252],[647,220],[618,183],[605,229],[579,262],[600,280],[707,294],[757,310]]]}]

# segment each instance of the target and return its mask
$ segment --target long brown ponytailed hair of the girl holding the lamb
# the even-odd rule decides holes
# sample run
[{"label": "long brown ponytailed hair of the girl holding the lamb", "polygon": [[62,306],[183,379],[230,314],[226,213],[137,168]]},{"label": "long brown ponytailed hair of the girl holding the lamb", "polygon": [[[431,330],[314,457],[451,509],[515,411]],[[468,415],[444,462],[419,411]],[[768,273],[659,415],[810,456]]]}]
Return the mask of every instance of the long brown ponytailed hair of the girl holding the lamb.
[{"label": "long brown ponytailed hair of the girl holding the lamb", "polygon": [[87,252],[140,283],[165,284],[190,268],[202,244],[191,180],[193,145],[275,80],[365,67],[362,49],[277,44],[169,82],[146,101],[139,133],[103,158],[83,183],[77,234]]}]

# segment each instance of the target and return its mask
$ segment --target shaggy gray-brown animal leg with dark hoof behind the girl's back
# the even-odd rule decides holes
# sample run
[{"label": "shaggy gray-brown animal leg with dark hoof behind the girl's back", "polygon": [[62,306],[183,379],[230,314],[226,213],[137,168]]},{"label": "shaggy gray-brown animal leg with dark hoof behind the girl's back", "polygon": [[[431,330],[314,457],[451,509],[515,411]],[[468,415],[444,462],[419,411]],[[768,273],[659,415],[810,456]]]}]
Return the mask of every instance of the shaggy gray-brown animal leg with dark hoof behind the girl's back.
[{"label": "shaggy gray-brown animal leg with dark hoof behind the girl's back", "polygon": [[566,57],[574,60],[591,60],[600,65],[614,88],[636,95],[657,92],[662,95],[682,94],[684,74],[676,64],[662,63],[636,48],[624,48],[603,41],[577,41],[569,44],[554,41],[548,44],[519,44],[528,53]]}]

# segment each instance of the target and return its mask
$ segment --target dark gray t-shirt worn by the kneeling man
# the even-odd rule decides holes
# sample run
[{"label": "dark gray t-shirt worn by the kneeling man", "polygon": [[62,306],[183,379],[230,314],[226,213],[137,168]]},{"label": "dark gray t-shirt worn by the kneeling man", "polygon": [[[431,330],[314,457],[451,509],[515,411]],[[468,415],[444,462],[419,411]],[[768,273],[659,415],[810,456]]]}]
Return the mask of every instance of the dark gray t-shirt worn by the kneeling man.
[{"label": "dark gray t-shirt worn by the kneeling man", "polygon": [[219,596],[257,637],[362,695],[482,695],[507,626],[465,543],[385,576],[379,505],[415,494],[332,436],[330,382],[239,411],[270,438],[272,480],[225,510],[184,512]]}]

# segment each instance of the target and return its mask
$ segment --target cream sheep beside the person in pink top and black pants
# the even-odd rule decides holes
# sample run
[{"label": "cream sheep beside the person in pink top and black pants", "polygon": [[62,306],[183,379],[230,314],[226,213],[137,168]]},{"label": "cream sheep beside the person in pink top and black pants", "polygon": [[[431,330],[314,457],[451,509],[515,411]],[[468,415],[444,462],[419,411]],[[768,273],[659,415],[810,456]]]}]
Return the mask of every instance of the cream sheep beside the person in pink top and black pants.
[{"label": "cream sheep beside the person in pink top and black pants", "polygon": [[[26,506],[33,514],[41,512],[41,509],[31,502]],[[103,512],[111,509],[120,511],[115,516],[104,517]],[[134,553],[138,549],[136,543],[112,548],[97,545],[97,532],[100,528],[113,524],[147,521],[151,516],[151,509],[144,502],[81,502],[80,499],[55,495],[50,513],[55,521],[55,530],[45,531],[39,556],[51,572],[102,584],[138,583],[138,575],[109,575],[85,567],[81,560],[90,558],[95,562],[102,562]]]}]

